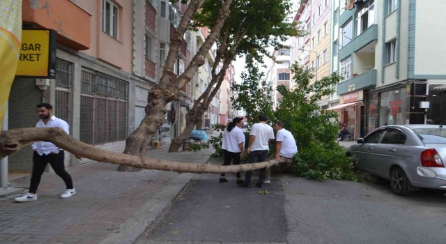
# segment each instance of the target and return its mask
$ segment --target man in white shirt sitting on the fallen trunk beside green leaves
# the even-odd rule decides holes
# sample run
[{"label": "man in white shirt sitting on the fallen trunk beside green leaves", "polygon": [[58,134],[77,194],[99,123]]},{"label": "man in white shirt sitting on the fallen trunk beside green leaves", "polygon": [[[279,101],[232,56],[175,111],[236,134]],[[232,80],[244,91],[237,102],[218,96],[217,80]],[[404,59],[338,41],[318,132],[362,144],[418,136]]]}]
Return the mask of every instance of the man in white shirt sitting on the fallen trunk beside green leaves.
[{"label": "man in white shirt sitting on the fallen trunk beside green leaves", "polygon": [[[271,155],[268,160],[275,159],[281,164],[277,167],[277,171],[284,171],[291,166],[291,158],[298,153],[298,145],[295,143],[293,134],[289,130],[285,129],[284,122],[274,123],[273,129],[276,132],[276,152],[275,155]],[[268,167],[266,170],[265,183],[270,183],[272,167]]]}]

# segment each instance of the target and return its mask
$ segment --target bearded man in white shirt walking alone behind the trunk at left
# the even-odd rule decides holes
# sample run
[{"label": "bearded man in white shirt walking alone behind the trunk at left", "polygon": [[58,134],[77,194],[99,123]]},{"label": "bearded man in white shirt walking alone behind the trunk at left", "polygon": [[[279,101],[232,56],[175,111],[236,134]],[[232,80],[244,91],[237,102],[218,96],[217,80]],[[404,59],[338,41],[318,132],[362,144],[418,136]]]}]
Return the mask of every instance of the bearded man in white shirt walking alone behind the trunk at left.
[{"label": "bearded man in white shirt walking alone behind the trunk at left", "polygon": [[[56,118],[53,115],[53,107],[48,103],[41,103],[37,105],[37,112],[40,120],[36,124],[37,128],[59,127],[70,134],[70,126],[66,121]],[[75,188],[72,186],[72,179],[70,174],[65,170],[63,160],[65,152],[61,148],[52,144],[51,142],[36,142],[33,144],[33,171],[31,174],[31,183],[29,185],[29,192],[22,197],[16,197],[15,201],[35,201],[37,200],[37,188],[40,183],[40,178],[45,171],[45,167],[49,165],[54,169],[54,172],[60,176],[66,185],[66,191],[63,192],[61,198],[72,197],[76,194]]]}]

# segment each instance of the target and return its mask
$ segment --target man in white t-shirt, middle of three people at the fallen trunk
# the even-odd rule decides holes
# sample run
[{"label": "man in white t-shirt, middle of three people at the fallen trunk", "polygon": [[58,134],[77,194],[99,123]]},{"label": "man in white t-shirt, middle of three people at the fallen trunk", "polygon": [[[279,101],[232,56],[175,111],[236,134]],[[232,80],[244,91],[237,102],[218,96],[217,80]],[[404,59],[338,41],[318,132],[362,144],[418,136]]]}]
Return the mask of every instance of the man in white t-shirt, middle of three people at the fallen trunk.
[{"label": "man in white t-shirt, middle of three people at the fallen trunk", "polygon": [[[269,143],[274,140],[274,131],[272,127],[267,124],[268,116],[260,115],[259,123],[252,125],[251,132],[249,133],[248,144],[248,163],[264,162],[268,157],[268,151],[270,150]],[[251,176],[252,171],[245,172],[245,183],[240,184],[241,188],[251,188]],[[256,187],[261,188],[263,181],[265,181],[266,169],[260,169],[259,181],[256,183]]]}]

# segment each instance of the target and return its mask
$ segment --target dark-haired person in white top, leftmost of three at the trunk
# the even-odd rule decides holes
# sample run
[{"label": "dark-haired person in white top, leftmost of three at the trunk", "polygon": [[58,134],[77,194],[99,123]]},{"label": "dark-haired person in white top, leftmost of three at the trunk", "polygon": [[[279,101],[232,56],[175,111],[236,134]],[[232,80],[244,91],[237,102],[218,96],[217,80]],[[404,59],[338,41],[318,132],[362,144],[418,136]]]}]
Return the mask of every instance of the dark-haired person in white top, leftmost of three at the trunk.
[{"label": "dark-haired person in white top, leftmost of three at the trunk", "polygon": [[[243,126],[243,118],[236,117],[229,122],[226,129],[223,132],[223,144],[222,149],[224,151],[224,165],[240,165],[240,157],[245,158],[245,134],[241,129]],[[237,176],[237,184],[243,183],[242,175],[239,173]],[[220,183],[228,182],[225,174],[220,174]]]}]

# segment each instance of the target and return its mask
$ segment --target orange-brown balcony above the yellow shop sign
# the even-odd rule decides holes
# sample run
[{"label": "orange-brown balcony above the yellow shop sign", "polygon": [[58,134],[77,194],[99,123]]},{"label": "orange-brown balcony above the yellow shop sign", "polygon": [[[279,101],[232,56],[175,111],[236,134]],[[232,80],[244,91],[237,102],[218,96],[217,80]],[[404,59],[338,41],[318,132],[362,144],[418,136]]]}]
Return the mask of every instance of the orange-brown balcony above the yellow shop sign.
[{"label": "orange-brown balcony above the yellow shop sign", "polygon": [[24,24],[57,31],[58,43],[77,50],[90,48],[91,15],[72,1],[23,1],[22,16]]}]

